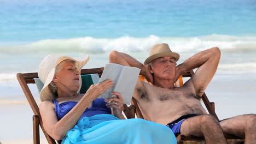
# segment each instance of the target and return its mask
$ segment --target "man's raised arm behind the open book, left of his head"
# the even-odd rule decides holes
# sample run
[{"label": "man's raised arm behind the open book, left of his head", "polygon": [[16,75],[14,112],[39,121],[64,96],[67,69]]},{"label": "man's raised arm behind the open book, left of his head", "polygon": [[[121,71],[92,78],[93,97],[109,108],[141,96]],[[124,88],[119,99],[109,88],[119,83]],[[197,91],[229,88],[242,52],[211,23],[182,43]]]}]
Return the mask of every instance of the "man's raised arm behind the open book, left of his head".
[{"label": "man's raised arm behind the open book, left of his head", "polygon": [[109,63],[117,63],[124,66],[136,67],[141,69],[140,75],[146,77],[146,79],[153,83],[152,74],[149,73],[148,69],[142,63],[138,62],[135,58],[117,51],[110,52]]}]

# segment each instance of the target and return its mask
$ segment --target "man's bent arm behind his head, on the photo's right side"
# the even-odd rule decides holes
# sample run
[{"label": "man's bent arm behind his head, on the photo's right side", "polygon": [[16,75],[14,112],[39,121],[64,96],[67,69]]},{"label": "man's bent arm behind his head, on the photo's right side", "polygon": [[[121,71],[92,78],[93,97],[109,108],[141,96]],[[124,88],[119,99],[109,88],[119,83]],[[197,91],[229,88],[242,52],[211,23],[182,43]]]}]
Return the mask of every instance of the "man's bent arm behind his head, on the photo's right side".
[{"label": "man's bent arm behind his head, on the photo's right side", "polygon": [[191,77],[191,82],[196,94],[202,96],[217,70],[219,59],[220,50],[218,47],[199,52],[176,67],[176,77],[198,68],[193,77]]}]

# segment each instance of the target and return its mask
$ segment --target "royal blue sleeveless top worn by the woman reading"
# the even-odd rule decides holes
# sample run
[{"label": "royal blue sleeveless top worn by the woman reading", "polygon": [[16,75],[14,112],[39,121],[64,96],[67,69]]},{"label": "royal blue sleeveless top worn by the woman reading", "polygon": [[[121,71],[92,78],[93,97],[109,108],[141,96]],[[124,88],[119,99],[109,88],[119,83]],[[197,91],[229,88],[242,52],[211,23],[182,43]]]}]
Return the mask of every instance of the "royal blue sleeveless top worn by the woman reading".
[{"label": "royal blue sleeveless top worn by the woman reading", "polygon": [[[64,103],[58,104],[57,100],[54,99],[53,103],[55,104],[55,113],[60,121],[62,117],[64,117],[78,102],[77,101],[66,101]],[[106,102],[104,99],[95,99],[91,103],[91,107],[87,108],[82,116],[79,118],[82,119],[83,117],[91,117],[94,115],[99,114],[110,114],[111,109],[106,106]]]}]

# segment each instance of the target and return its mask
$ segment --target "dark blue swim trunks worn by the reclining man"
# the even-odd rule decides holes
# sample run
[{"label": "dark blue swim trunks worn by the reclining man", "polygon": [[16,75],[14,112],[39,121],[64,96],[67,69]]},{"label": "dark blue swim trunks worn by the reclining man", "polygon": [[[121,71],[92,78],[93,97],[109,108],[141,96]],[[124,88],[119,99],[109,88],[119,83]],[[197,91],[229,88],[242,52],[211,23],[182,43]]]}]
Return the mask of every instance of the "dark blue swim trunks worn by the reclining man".
[{"label": "dark blue swim trunks worn by the reclining man", "polygon": [[195,116],[198,116],[198,115],[189,114],[189,115],[181,116],[178,119],[176,119],[175,121],[168,123],[166,126],[169,127],[172,130],[173,134],[177,137],[179,134],[181,134],[180,130],[181,130],[182,122],[185,121],[185,119],[188,119],[190,117],[195,117]]}]

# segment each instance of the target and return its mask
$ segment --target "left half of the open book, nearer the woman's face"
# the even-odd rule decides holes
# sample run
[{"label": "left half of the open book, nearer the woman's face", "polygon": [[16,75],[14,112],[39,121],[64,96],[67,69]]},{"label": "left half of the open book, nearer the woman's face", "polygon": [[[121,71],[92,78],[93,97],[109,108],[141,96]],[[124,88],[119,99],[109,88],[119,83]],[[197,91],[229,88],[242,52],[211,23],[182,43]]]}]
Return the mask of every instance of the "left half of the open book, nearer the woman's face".
[{"label": "left half of the open book, nearer the woman's face", "polygon": [[106,67],[104,68],[103,73],[101,75],[101,79],[100,81],[98,81],[98,83],[101,83],[107,79],[111,79],[114,82],[114,84],[112,87],[107,89],[107,91],[102,93],[98,98],[108,99],[114,96],[114,95],[111,95],[110,93],[114,91],[114,87],[115,85],[117,85],[117,80],[123,67],[124,67],[123,65],[115,64],[115,63],[106,64]]}]

